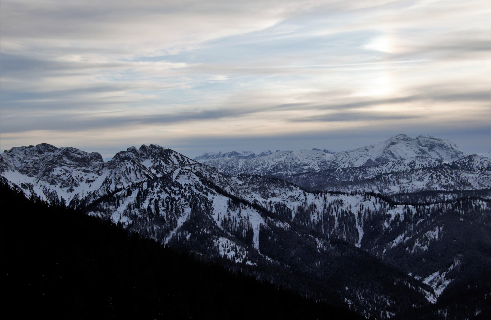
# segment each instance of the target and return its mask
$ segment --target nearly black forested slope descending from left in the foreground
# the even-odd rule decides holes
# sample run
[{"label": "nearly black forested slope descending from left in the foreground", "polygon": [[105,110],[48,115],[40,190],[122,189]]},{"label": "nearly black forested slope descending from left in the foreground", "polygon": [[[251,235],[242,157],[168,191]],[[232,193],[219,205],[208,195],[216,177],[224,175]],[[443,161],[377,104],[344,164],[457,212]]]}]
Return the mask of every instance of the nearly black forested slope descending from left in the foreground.
[{"label": "nearly black forested slope descending from left in the foreground", "polygon": [[0,183],[2,287],[18,318],[362,319]]}]

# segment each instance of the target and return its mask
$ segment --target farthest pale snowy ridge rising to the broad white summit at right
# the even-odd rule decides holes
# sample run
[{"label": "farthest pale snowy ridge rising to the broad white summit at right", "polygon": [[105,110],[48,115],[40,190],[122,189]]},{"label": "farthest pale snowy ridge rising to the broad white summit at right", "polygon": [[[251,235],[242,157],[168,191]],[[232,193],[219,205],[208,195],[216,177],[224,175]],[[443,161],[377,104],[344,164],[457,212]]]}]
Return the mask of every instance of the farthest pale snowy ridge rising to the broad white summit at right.
[{"label": "farthest pale snowy ridge rising to the broad white summit at right", "polygon": [[217,168],[228,175],[260,174],[270,176],[293,175],[318,170],[335,170],[361,166],[376,166],[391,161],[409,158],[432,159],[451,162],[466,156],[453,142],[432,136],[415,139],[405,134],[391,137],[376,145],[354,150],[333,152],[332,150],[277,151],[263,157],[251,156],[200,156],[194,160]]}]

